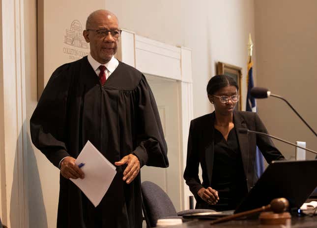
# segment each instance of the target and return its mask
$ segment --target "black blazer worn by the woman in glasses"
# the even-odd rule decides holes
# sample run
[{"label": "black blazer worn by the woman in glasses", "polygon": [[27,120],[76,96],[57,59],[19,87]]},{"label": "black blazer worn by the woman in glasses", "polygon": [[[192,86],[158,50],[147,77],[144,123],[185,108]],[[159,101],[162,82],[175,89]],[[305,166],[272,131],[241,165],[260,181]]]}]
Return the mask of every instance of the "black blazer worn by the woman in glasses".
[{"label": "black blazer worn by the woman in glasses", "polygon": [[[204,203],[197,194],[198,191],[202,187],[212,187],[210,183],[214,158],[214,121],[215,112],[196,118],[190,124],[184,179],[197,203]],[[267,133],[258,114],[254,112],[234,111],[233,123],[236,129],[245,128]],[[268,163],[283,160],[284,157],[267,136],[242,134],[237,131],[237,138],[247,187],[250,190],[258,180],[255,168],[257,145]],[[202,183],[198,176],[199,164],[202,166]]]}]

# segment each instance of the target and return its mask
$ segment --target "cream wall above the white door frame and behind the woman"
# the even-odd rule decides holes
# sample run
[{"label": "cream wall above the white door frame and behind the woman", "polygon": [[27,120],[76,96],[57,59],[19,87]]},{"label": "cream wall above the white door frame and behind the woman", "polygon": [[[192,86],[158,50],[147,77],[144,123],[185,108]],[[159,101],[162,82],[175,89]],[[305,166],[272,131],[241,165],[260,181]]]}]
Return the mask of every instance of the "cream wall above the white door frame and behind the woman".
[{"label": "cream wall above the white door frame and behind the woman", "polygon": [[253,0],[106,0],[106,7],[124,29],[192,49],[194,117],[213,109],[205,88],[216,62],[243,67],[245,79],[248,34],[255,37]]}]

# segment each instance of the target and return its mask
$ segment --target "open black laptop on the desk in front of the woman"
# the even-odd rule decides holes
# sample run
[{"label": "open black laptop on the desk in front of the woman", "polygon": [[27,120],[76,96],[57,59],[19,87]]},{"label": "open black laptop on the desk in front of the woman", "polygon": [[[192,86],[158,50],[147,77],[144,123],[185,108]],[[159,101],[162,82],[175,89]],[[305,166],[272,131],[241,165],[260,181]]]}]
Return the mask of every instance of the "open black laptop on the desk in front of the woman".
[{"label": "open black laptop on the desk in front of the woman", "polygon": [[280,197],[288,199],[290,209],[298,209],[316,187],[317,160],[273,161],[234,211],[194,213],[191,217],[213,219],[236,214],[265,206]]}]

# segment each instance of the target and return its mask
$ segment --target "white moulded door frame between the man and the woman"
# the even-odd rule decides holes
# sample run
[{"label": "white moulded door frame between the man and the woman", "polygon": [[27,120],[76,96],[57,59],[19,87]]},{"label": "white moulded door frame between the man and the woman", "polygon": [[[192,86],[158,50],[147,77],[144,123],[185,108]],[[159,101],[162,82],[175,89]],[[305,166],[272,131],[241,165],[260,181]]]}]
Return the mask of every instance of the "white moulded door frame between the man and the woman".
[{"label": "white moulded door frame between the man and the woman", "polygon": [[144,74],[173,79],[179,84],[181,169],[178,175],[181,180],[181,209],[189,209],[189,196],[192,194],[183,179],[183,172],[186,166],[189,126],[193,119],[192,51],[123,30],[116,58]]}]

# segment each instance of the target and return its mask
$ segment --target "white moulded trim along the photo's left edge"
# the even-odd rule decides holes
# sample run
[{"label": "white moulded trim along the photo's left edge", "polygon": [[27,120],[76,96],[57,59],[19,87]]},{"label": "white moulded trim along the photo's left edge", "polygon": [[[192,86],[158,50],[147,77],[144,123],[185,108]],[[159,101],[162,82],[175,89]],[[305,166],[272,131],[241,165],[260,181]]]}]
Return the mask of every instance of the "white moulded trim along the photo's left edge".
[{"label": "white moulded trim along the photo's left edge", "polygon": [[0,57],[0,216],[8,227],[27,223],[23,3],[1,0]]}]

